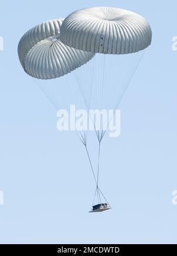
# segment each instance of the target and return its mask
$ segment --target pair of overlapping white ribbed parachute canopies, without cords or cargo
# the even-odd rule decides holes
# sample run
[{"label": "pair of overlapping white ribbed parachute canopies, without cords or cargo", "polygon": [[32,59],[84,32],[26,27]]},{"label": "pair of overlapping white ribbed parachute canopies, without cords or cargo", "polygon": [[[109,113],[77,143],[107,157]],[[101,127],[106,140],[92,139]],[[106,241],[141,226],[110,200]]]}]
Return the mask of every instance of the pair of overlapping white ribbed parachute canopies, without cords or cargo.
[{"label": "pair of overlapping white ribbed parachute canopies, without cords or cargo", "polygon": [[150,25],[134,12],[86,8],[31,28],[19,41],[18,56],[28,75],[51,79],[74,71],[95,53],[135,53],[148,47],[151,39]]}]

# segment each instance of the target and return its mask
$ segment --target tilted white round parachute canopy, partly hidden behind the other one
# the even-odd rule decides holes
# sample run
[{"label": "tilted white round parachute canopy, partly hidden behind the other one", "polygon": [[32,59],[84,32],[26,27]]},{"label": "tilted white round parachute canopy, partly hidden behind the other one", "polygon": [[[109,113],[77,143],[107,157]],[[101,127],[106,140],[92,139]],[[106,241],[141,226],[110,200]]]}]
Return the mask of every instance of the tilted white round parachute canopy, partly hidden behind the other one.
[{"label": "tilted white round parachute canopy, partly hidden behind the other one", "polygon": [[63,76],[88,62],[94,53],[66,46],[60,40],[63,19],[41,23],[22,36],[18,56],[24,71],[39,79]]}]

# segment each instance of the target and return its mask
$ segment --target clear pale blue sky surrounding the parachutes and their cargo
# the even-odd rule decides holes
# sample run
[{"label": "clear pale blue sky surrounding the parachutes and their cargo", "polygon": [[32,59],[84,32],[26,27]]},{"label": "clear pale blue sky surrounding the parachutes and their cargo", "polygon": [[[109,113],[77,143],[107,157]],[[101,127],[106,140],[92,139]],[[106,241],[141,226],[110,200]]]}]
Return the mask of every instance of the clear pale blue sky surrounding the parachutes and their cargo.
[{"label": "clear pale blue sky surrounding the parachutes and their cargo", "polygon": [[[55,108],[17,54],[34,25],[94,6],[137,12],[153,32],[119,105],[121,135],[103,140],[100,183],[113,209],[100,214],[88,213],[94,181],[83,145],[57,131]],[[172,0],[1,1],[1,244],[176,243],[176,8]]]}]

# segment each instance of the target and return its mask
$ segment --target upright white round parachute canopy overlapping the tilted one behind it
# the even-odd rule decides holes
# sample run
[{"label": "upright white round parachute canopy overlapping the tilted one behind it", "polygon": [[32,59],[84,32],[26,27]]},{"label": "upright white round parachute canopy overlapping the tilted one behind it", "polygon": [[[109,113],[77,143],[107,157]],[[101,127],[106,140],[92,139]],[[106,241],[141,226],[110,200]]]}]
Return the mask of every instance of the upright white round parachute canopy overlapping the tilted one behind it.
[{"label": "upright white round parachute canopy overlapping the tilted one behind it", "polygon": [[148,47],[151,39],[151,28],[145,18],[113,7],[75,11],[61,26],[63,43],[94,53],[135,53]]}]

